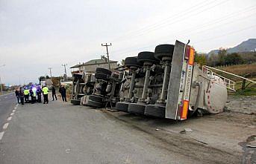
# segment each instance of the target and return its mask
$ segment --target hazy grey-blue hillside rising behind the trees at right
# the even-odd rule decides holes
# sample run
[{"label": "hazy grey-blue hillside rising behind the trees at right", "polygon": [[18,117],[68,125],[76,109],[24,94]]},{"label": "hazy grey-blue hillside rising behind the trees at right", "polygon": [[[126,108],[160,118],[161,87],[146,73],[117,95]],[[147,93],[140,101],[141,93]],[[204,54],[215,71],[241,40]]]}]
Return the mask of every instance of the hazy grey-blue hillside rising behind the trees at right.
[{"label": "hazy grey-blue hillside rising behind the trees at right", "polygon": [[[256,39],[248,39],[235,47],[228,48],[228,53],[240,53],[256,50]],[[209,54],[217,54],[219,50],[210,50]]]}]

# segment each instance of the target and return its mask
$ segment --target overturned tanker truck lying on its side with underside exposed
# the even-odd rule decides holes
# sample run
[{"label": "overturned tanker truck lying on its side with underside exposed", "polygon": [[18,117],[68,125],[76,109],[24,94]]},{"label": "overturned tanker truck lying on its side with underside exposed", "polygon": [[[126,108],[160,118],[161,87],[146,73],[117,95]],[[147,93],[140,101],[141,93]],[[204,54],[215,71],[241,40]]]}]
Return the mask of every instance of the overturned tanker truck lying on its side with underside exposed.
[{"label": "overturned tanker truck lying on its side with underside exposed", "polygon": [[222,112],[234,82],[197,65],[194,57],[194,48],[179,41],[127,57],[116,78],[110,70],[96,71],[107,75],[96,76],[82,104],[100,108],[115,102],[118,111],[177,120]]}]

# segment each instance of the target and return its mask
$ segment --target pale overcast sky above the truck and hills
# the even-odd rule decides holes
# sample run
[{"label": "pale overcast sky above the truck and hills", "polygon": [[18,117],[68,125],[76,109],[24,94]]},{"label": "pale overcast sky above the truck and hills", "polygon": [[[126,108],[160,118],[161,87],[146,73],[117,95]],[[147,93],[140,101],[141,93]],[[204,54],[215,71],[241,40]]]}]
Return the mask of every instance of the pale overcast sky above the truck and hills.
[{"label": "pale overcast sky above the truck and hills", "polygon": [[[7,85],[60,76],[67,64],[121,61],[160,44],[198,52],[256,38],[255,0],[0,0],[0,77]],[[2,67],[2,65],[5,65]]]}]

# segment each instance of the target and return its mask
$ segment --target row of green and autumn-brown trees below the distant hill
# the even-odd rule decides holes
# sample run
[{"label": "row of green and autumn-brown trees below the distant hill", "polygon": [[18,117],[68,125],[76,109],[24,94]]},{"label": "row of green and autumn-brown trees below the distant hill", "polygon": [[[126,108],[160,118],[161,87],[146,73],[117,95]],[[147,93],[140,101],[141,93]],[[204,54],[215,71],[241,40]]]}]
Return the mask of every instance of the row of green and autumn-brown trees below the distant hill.
[{"label": "row of green and autumn-brown trees below the distant hill", "polygon": [[212,67],[251,64],[256,62],[256,52],[228,53],[227,49],[220,48],[218,54],[196,53],[195,61],[200,65]]}]

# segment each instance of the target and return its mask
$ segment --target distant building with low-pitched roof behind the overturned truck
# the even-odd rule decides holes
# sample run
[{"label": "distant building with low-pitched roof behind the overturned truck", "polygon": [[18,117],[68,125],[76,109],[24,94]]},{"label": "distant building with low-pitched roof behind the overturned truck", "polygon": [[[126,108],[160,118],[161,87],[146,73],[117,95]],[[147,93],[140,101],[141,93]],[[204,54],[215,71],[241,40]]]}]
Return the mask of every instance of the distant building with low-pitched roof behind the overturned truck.
[{"label": "distant building with low-pitched roof behind the overturned truck", "polygon": [[[117,61],[110,60],[110,70],[117,68]],[[74,65],[71,67],[72,73],[95,73],[96,68],[106,68],[108,69],[107,59],[93,59],[89,62],[85,62],[79,65]]]}]

